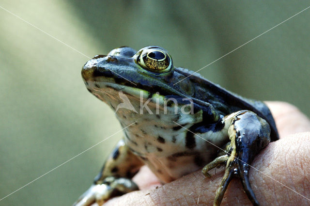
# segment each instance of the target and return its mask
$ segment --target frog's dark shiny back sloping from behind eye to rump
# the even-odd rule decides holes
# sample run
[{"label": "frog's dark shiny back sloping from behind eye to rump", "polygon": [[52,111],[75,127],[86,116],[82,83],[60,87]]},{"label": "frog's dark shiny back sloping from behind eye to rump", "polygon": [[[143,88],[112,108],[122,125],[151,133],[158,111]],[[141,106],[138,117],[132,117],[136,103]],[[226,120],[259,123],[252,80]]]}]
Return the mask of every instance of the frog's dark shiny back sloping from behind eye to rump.
[{"label": "frog's dark shiny back sloping from behind eye to rump", "polygon": [[[275,120],[268,107],[261,101],[248,99],[234,94],[213,82],[204,79],[184,68],[176,68],[176,71],[184,76],[189,76],[189,80],[196,84],[195,98],[201,99],[214,106],[222,115],[228,115],[235,111],[249,110],[265,119],[271,127],[271,141],[279,139]],[[212,92],[209,92],[212,91]]]}]

